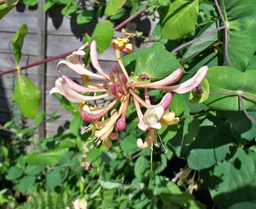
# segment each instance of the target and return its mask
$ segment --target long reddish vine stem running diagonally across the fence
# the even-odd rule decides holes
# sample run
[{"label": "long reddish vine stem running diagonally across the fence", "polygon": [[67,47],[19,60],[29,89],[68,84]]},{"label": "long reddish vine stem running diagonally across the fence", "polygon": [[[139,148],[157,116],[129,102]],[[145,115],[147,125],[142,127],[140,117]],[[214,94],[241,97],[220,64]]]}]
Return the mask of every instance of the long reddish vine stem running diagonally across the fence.
[{"label": "long reddish vine stem running diagonally across the fence", "polygon": [[[0,2],[1,3],[1,2]],[[124,25],[126,25],[128,22],[130,22],[132,19],[136,18],[138,15],[140,15],[142,12],[144,12],[148,7],[144,7],[142,8],[141,10],[139,10],[138,12],[136,12],[135,14],[133,14],[132,16],[130,16],[130,18],[124,20],[123,22],[121,22],[118,26],[116,26],[114,28],[114,30],[118,30],[120,28],[122,28]],[[89,45],[87,46],[87,48],[89,47]],[[69,52],[66,52],[64,54],[61,54],[61,55],[57,55],[57,56],[53,56],[53,57],[49,57],[49,58],[46,58],[46,59],[42,59],[40,61],[37,61],[37,62],[34,62],[34,63],[30,63],[28,65],[24,65],[22,67],[20,67],[21,70],[23,69],[28,69],[30,67],[34,67],[36,65],[41,65],[43,63],[47,63],[47,62],[50,62],[50,61],[53,61],[53,60],[56,60],[56,59],[60,59],[62,57],[66,57],[70,54],[73,53],[73,51],[77,51],[78,49],[74,49],[72,51],[69,51]],[[10,69],[10,70],[7,70],[7,71],[2,71],[0,72],[0,75],[5,75],[5,74],[8,74],[8,73],[13,73],[13,72],[16,72],[17,71],[17,68],[14,68],[14,69]]]}]

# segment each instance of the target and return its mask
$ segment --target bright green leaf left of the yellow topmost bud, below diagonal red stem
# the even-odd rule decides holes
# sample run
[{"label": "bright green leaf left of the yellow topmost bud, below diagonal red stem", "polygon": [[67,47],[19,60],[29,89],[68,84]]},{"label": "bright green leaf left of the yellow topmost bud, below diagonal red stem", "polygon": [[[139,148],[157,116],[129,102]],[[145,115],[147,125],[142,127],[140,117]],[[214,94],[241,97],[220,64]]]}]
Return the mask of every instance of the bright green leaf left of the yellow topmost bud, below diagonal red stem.
[{"label": "bright green leaf left of the yellow topmost bud, below diagonal red stem", "polygon": [[97,51],[99,54],[108,48],[113,35],[113,24],[109,20],[104,20],[96,25],[91,40],[97,42]]}]

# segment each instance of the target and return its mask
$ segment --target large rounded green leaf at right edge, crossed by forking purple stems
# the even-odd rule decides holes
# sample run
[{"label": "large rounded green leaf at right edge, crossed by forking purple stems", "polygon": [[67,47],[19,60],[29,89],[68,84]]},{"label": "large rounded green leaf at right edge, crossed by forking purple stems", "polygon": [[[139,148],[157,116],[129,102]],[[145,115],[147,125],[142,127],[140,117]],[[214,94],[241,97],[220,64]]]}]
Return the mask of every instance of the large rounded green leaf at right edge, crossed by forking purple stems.
[{"label": "large rounded green leaf at right edge, crossed by forking purple stems", "polygon": [[[256,71],[241,71],[224,66],[211,67],[206,75],[210,85],[210,93],[243,93],[256,99],[255,85]],[[247,110],[256,110],[255,102],[243,99]],[[238,96],[209,95],[204,102],[210,108],[216,110],[238,111],[242,110]]]}]

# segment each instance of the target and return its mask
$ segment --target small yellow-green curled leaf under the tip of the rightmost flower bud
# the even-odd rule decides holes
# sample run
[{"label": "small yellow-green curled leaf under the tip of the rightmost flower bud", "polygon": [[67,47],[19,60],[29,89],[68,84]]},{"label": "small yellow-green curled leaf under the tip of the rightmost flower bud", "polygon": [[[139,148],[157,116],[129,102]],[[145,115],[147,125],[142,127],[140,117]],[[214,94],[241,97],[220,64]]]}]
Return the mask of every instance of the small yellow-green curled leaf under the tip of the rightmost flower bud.
[{"label": "small yellow-green curled leaf under the tip of the rightmost flower bud", "polygon": [[203,89],[202,94],[197,94],[194,91],[190,91],[189,101],[191,103],[202,103],[206,101],[206,99],[208,99],[209,93],[210,93],[210,87],[207,79],[204,79],[204,81],[201,83],[201,87]]}]

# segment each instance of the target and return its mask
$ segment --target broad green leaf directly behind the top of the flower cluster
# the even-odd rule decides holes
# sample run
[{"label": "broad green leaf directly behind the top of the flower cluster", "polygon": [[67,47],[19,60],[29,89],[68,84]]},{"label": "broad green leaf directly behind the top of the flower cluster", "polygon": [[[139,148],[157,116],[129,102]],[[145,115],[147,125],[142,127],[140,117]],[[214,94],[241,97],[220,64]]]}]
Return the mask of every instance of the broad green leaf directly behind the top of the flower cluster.
[{"label": "broad green leaf directly behind the top of the flower cluster", "polygon": [[128,73],[133,71],[135,76],[146,73],[150,80],[164,79],[176,69],[182,68],[176,57],[159,42],[122,57],[122,61]]}]

